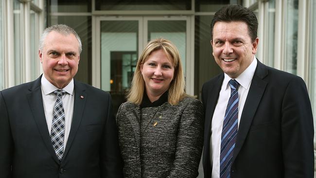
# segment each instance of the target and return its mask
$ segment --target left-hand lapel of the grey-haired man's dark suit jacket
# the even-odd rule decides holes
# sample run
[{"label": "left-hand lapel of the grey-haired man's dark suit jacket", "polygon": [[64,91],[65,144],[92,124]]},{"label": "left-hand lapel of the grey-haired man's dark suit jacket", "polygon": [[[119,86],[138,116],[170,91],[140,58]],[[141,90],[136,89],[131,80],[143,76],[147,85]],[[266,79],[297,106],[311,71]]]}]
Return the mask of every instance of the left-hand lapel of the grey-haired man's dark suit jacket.
[{"label": "left-hand lapel of the grey-haired man's dark suit jacket", "polygon": [[48,126],[46,123],[46,117],[45,117],[45,112],[44,112],[44,107],[43,107],[42,91],[40,87],[41,78],[42,76],[40,76],[37,80],[32,82],[33,85],[29,88],[30,92],[27,94],[27,99],[29,101],[29,105],[32,110],[34,120],[39,130],[39,133],[41,134],[42,139],[47,149],[52,154],[53,159],[57,163],[59,163],[59,160],[57,159],[55,151],[53,149],[51,136],[48,131]]}]

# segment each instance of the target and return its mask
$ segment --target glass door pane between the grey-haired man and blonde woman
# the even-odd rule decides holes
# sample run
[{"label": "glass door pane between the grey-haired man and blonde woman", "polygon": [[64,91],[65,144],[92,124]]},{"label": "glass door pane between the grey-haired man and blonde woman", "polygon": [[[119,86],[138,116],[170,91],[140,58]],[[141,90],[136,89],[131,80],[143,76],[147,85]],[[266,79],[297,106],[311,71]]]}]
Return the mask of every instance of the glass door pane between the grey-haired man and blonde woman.
[{"label": "glass door pane between the grey-haired man and blonde woman", "polygon": [[138,21],[101,21],[101,89],[110,91],[113,112],[125,102],[138,60]]}]

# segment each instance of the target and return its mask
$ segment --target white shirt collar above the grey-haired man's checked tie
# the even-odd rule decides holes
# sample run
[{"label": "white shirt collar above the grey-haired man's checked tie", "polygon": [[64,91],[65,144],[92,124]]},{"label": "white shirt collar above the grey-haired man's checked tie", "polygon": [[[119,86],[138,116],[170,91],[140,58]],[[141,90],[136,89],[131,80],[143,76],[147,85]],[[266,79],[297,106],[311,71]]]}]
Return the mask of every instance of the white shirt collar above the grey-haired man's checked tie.
[{"label": "white shirt collar above the grey-haired man's checked tie", "polygon": [[[42,78],[41,78],[41,88],[45,95],[51,94],[56,89],[58,89],[45,78],[44,74],[42,75]],[[70,95],[73,95],[73,91],[74,91],[73,88],[74,88],[74,84],[73,84],[73,78],[72,78],[69,84],[63,88],[63,90],[65,90]]]}]

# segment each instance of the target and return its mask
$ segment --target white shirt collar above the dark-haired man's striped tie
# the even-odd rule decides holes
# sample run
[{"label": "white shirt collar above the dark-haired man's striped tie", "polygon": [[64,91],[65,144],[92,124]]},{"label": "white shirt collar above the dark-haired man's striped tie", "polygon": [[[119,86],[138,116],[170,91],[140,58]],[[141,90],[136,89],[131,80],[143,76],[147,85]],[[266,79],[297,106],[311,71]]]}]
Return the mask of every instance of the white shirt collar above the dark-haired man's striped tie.
[{"label": "white shirt collar above the dark-haired man's striped tie", "polygon": [[230,89],[228,82],[230,79],[235,79],[240,84],[240,86],[242,86],[245,89],[248,89],[250,87],[252,77],[256,71],[256,67],[257,67],[257,59],[254,56],[250,65],[237,78],[230,78],[228,74],[224,73],[224,81],[223,81],[222,86],[225,87],[226,89]]}]

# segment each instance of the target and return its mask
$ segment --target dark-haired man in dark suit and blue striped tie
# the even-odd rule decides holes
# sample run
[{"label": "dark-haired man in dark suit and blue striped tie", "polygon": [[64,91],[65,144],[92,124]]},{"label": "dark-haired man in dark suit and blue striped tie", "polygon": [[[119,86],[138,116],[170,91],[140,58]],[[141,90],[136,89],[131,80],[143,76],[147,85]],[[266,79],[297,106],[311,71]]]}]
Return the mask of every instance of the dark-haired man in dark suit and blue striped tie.
[{"label": "dark-haired man in dark suit and blue striped tie", "polygon": [[211,45],[224,73],[202,88],[205,178],[314,178],[314,128],[304,81],[255,58],[255,14],[219,10]]}]

